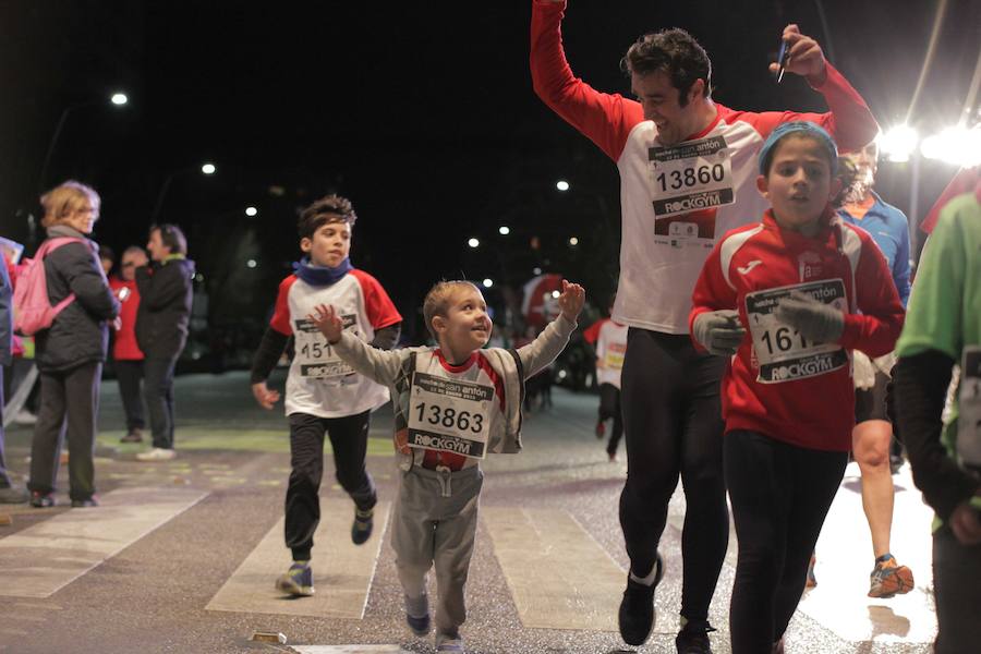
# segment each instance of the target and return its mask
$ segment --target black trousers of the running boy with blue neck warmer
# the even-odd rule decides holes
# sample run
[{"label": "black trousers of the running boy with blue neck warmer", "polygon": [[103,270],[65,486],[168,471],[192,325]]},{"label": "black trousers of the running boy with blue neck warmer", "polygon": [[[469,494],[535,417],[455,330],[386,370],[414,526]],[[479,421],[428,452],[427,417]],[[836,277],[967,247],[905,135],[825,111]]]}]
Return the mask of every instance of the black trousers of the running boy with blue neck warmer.
[{"label": "black trousers of the running boy with blue neck warmer", "polygon": [[375,506],[372,475],[364,467],[371,412],[344,417],[290,414],[290,485],[286,501],[286,543],[294,560],[308,560],[314,532],[320,523],[320,477],[324,475],[324,434],[330,438],[337,482],[361,510]]}]

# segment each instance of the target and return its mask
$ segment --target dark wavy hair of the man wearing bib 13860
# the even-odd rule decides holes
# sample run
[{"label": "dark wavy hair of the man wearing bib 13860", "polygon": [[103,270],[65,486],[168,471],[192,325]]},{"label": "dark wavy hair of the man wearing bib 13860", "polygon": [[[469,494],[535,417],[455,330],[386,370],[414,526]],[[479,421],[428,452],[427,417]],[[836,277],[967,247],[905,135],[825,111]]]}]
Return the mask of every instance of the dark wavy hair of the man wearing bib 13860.
[{"label": "dark wavy hair of the man wearing bib 13860", "polygon": [[712,95],[712,61],[692,35],[681,29],[662,29],[645,34],[630,46],[620,60],[627,73],[646,75],[655,71],[665,73],[678,89],[678,104],[688,105],[688,92],[695,80],[704,80],[704,97]]}]

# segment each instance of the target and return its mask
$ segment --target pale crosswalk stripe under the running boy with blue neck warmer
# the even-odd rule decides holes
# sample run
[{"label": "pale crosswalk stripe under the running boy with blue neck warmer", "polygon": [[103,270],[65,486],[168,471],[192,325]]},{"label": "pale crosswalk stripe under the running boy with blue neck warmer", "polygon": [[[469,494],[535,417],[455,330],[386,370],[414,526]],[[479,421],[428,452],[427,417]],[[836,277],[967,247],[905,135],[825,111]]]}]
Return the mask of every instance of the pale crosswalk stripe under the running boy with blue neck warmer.
[{"label": "pale crosswalk stripe under the running boy with blue neck warmer", "polygon": [[290,566],[290,552],[283,545],[283,520],[280,519],[205,608],[362,619],[390,506],[387,501],[375,506],[375,533],[371,541],[358,546],[351,543],[354,517],[351,500],[320,499],[320,524],[314,534],[311,561],[316,589],[312,597],[287,602],[282,592],[275,588],[276,578]]}]

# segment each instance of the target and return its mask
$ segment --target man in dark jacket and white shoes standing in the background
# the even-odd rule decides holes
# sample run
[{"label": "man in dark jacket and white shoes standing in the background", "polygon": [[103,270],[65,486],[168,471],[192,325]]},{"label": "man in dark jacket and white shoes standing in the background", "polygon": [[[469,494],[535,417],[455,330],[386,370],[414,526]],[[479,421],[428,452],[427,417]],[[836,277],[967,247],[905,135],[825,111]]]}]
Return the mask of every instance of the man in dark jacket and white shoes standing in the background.
[{"label": "man in dark jacket and white shoes standing in the background", "polygon": [[143,392],[154,447],[136,458],[168,461],[174,457],[173,368],[187,341],[194,262],[187,258],[187,240],[174,225],[150,228],[146,249],[152,263],[136,269],[136,342],[145,356]]}]

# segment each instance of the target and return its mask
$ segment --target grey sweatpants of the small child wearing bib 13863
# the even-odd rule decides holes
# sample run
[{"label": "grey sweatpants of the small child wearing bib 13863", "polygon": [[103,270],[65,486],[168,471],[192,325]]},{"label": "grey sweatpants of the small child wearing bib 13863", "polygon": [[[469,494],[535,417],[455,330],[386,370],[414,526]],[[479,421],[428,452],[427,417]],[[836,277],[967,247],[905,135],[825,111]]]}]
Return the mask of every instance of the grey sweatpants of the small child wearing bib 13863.
[{"label": "grey sweatpants of the small child wearing bib 13863", "polygon": [[456,634],[467,620],[463,586],[476,535],[484,473],[480,467],[435,472],[413,467],[403,472],[396,500],[391,546],[405,594],[416,600],[436,566],[436,628]]}]

